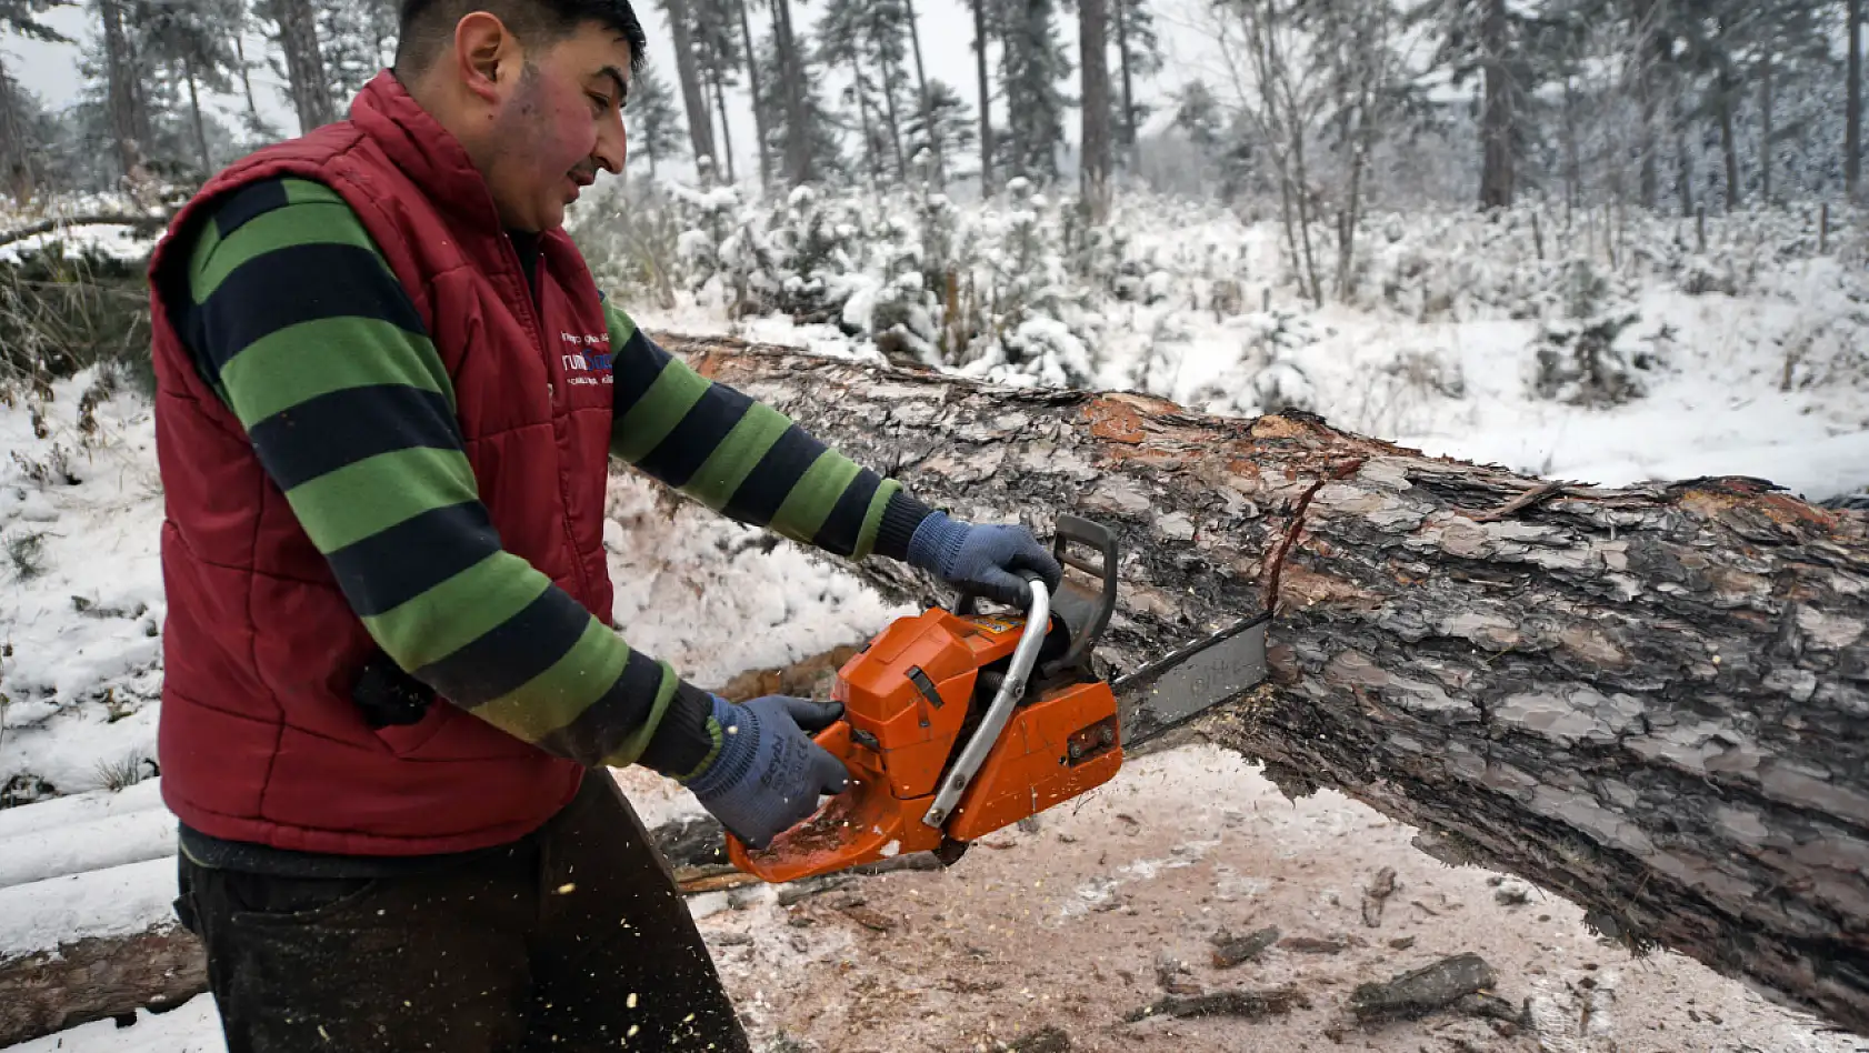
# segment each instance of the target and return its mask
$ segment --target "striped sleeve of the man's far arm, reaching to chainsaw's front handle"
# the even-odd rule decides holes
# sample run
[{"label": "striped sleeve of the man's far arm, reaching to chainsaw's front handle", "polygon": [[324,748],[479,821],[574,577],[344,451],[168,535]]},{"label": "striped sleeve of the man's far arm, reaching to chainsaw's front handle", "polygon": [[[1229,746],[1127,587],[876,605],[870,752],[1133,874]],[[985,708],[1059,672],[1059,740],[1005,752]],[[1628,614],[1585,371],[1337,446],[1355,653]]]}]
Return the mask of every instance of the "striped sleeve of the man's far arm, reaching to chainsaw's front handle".
[{"label": "striped sleeve of the man's far arm, reaching to chainsaw's front handle", "polygon": [[856,465],[789,416],[712,383],[609,316],[611,452],[738,523],[826,553],[906,558],[929,508],[895,480]]}]

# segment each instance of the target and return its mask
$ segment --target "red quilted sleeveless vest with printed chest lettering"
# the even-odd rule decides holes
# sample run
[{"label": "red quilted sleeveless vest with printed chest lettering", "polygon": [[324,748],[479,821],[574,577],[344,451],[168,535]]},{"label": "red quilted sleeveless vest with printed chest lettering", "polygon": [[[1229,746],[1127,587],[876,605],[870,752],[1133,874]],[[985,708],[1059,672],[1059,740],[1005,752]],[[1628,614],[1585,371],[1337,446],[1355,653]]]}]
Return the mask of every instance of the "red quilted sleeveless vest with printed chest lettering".
[{"label": "red quilted sleeveless vest with printed chest lettering", "polygon": [[566,383],[564,360],[607,351],[596,286],[570,237],[549,232],[535,301],[465,149],[379,73],[350,119],[207,183],[150,263],[166,491],[163,799],[209,836],[299,851],[419,855],[518,838],[572,799],[581,767],[445,702],[417,724],[361,719],[350,691],[374,644],[164,310],[163,289],[187,265],[166,252],[176,233],[206,202],[275,176],[321,181],[363,217],[452,377],[503,545],[611,616],[613,388],[607,373]]}]

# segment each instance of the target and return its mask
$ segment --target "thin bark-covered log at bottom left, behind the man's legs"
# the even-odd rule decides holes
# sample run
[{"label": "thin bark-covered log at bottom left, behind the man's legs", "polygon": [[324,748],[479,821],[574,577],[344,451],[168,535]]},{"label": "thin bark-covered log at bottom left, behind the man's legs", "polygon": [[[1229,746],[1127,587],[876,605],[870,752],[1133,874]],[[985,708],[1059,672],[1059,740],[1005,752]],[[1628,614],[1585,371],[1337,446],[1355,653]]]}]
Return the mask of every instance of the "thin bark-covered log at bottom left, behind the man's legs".
[{"label": "thin bark-covered log at bottom left, behind the man's legs", "polygon": [[176,1006],[206,990],[207,958],[179,924],[65,943],[0,962],[0,1047],[136,1008]]}]

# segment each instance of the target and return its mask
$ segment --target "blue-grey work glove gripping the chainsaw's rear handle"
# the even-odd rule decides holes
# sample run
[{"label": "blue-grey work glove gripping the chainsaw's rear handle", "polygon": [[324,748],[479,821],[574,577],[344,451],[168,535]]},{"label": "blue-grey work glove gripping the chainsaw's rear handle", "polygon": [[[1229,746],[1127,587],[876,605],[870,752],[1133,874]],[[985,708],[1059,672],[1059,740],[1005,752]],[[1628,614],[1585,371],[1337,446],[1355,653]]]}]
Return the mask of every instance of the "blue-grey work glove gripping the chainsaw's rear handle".
[{"label": "blue-grey work glove gripping the chainsaw's rear handle", "polygon": [[714,696],[720,752],[688,780],[701,807],[751,848],[817,812],[819,793],[843,793],[850,773],[811,741],[843,715],[839,702],[766,695],[744,706]]}]

